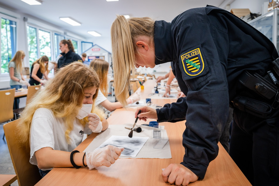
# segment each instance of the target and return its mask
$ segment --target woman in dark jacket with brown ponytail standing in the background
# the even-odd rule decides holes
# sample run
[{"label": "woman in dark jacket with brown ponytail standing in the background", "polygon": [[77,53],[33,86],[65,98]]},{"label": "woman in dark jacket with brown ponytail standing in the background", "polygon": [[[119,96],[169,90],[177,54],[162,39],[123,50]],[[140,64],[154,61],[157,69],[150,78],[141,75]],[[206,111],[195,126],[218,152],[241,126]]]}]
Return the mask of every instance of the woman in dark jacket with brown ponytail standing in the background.
[{"label": "woman in dark jacket with brown ponytail standing in the background", "polygon": [[75,48],[70,39],[61,40],[59,46],[62,57],[58,60],[58,68],[64,67],[71,62],[81,60],[80,56],[75,53]]}]

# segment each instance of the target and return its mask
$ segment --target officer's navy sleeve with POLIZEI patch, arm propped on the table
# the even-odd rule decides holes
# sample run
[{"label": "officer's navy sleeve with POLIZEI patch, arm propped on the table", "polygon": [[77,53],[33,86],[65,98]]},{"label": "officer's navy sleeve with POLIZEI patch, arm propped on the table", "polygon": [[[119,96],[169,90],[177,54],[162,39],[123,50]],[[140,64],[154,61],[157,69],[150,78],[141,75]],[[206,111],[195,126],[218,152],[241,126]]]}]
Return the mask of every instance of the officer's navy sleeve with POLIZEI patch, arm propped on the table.
[{"label": "officer's navy sleeve with POLIZEI patch, arm propped on the table", "polygon": [[[204,178],[209,162],[219,151],[217,145],[229,113],[229,94],[225,67],[214,38],[217,29],[208,23],[191,23],[177,33],[180,52],[178,66],[187,86],[186,129],[183,133],[185,155],[181,163],[200,178]],[[219,56],[220,55],[220,56]]]}]

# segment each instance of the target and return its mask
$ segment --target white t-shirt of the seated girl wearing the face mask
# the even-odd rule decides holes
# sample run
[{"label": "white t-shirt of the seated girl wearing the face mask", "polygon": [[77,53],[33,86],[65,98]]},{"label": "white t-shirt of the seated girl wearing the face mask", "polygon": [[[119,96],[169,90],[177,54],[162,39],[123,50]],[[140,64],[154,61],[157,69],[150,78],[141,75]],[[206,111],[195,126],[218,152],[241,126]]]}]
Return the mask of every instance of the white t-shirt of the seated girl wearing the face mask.
[{"label": "white t-shirt of the seated girl wearing the face mask", "polygon": [[63,118],[56,118],[50,109],[37,109],[30,128],[30,163],[38,166],[35,152],[41,148],[51,147],[53,150],[71,152],[82,142],[84,134],[92,133],[88,124],[83,127],[77,118],[73,124],[74,128],[69,134],[71,143],[68,144],[65,138],[66,127]]}]

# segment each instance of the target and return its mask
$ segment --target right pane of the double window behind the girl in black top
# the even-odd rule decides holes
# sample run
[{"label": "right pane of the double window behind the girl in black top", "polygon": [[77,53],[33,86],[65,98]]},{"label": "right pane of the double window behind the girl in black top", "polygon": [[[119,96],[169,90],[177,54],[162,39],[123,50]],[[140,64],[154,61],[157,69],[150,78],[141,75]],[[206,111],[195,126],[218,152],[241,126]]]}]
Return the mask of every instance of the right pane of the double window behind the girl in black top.
[{"label": "right pane of the double window behind the girl in black top", "polygon": [[50,49],[50,32],[39,30],[39,41],[40,41],[40,57],[43,55],[51,58]]}]

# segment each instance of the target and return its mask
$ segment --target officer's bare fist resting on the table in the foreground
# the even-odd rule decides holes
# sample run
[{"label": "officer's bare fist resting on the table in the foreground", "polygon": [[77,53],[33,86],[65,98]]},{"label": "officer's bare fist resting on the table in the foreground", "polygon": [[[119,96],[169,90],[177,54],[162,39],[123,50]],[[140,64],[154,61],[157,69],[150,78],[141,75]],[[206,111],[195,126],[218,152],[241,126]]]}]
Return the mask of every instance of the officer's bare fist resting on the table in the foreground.
[{"label": "officer's bare fist resting on the table in the foreground", "polygon": [[162,172],[164,182],[169,182],[175,185],[188,185],[190,182],[198,180],[198,176],[195,175],[190,169],[177,163],[170,164]]}]

